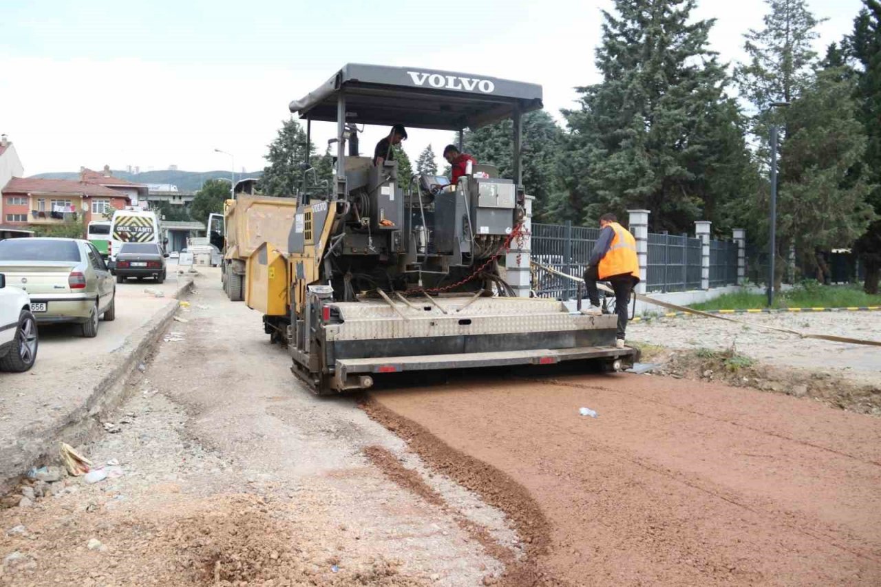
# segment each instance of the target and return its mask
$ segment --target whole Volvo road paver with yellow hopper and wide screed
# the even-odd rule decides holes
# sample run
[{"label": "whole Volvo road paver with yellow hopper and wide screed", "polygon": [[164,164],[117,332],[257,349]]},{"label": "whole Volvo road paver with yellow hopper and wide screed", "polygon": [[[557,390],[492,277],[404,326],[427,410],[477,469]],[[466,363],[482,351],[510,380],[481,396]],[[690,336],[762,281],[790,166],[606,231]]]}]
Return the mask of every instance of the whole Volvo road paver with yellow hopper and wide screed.
[{"label": "whole Volvo road paver with yellow hopper and wide screed", "polygon": [[[616,316],[531,297],[522,115],[542,107],[540,85],[358,63],[291,102],[307,140],[313,121],[336,123],[334,182],[326,196],[298,198],[284,238],[255,247],[245,301],[310,390],[363,390],[408,371],[633,364],[637,351],[615,346]],[[452,185],[359,154],[360,125],[451,130],[461,150],[465,128],[506,119],[507,178],[484,162]]]}]

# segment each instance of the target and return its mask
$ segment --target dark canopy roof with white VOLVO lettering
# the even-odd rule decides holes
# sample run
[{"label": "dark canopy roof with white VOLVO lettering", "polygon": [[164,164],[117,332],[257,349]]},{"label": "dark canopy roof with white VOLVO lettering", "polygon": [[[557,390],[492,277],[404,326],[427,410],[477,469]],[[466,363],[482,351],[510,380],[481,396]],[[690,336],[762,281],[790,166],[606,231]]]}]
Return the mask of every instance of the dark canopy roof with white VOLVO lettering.
[{"label": "dark canopy roof with white VOLVO lettering", "polygon": [[455,71],[348,63],[314,92],[290,104],[300,118],[334,122],[337,95],[346,121],[402,123],[423,129],[476,129],[510,117],[516,108],[542,108],[542,86]]}]

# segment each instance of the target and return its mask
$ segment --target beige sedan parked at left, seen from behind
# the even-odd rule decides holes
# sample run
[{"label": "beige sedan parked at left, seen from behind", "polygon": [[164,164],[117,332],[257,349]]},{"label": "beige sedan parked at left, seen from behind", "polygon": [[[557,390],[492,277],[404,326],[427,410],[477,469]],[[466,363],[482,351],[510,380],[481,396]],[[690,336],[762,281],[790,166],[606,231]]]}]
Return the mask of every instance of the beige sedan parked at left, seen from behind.
[{"label": "beige sedan parked at left, seen from behind", "polygon": [[116,286],[98,249],[83,239],[0,241],[6,286],[31,297],[37,323],[79,323],[83,336],[98,335],[98,320],[116,317]]}]

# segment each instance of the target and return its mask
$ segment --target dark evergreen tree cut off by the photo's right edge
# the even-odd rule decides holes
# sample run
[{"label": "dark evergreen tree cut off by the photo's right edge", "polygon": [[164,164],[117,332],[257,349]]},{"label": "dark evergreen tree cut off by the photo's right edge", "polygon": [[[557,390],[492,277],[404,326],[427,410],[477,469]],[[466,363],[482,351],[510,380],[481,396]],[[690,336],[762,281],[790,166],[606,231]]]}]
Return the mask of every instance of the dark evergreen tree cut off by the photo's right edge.
[{"label": "dark evergreen tree cut off by the photo's right edge", "polygon": [[859,117],[868,138],[863,171],[873,184],[869,202],[876,219],[856,241],[855,249],[865,266],[864,289],[878,293],[881,274],[881,3],[863,0],[854,20],[854,33],[848,38],[849,53],[859,63]]}]

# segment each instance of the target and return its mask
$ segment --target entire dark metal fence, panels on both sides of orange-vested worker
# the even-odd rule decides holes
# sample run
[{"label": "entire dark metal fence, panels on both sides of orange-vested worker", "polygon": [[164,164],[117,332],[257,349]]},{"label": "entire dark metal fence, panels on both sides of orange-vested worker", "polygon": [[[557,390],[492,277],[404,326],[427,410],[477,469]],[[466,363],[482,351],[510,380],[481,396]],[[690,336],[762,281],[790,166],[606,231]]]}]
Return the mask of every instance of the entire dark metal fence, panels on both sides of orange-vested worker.
[{"label": "entire dark metal fence, panels on both sides of orange-vested worker", "polygon": [[[532,258],[537,263],[581,277],[599,228],[573,227],[571,222],[532,225]],[[700,239],[687,234],[648,234],[646,290],[679,292],[700,289]],[[710,241],[710,287],[737,283],[737,243]],[[537,269],[533,286],[539,297],[570,300],[575,297],[572,280]]]}]

